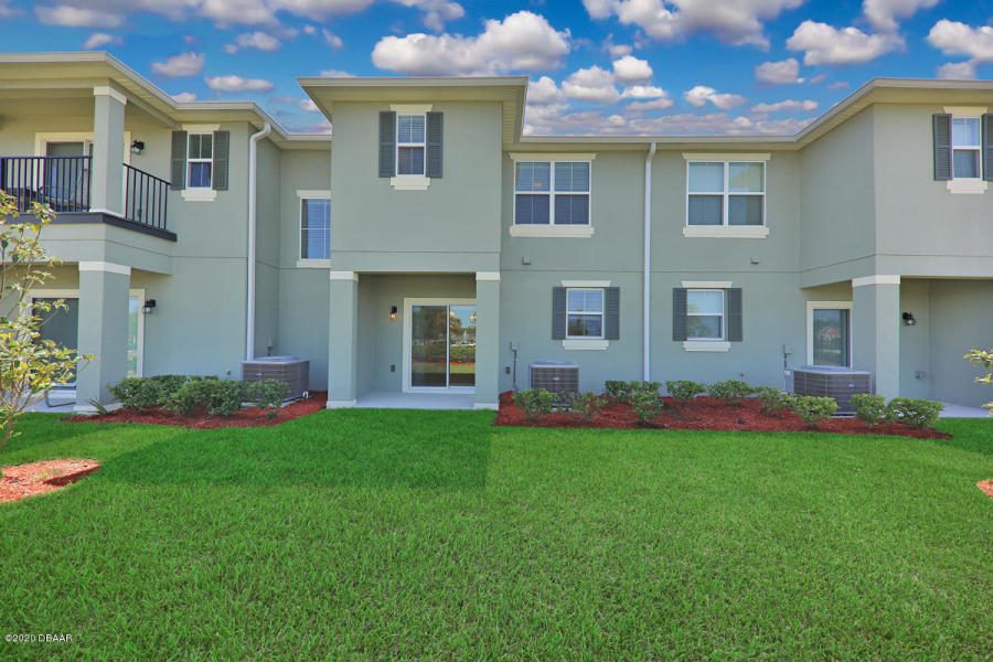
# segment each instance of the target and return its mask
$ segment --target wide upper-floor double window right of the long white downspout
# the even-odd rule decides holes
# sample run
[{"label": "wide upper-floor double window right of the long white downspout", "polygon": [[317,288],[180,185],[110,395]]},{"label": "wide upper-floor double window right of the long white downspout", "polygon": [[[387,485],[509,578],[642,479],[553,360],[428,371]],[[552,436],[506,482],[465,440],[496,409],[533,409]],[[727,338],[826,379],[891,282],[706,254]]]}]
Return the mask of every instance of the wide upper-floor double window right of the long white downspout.
[{"label": "wide upper-floor double window right of the long white downspout", "polygon": [[765,161],[687,161],[686,225],[766,224]]}]

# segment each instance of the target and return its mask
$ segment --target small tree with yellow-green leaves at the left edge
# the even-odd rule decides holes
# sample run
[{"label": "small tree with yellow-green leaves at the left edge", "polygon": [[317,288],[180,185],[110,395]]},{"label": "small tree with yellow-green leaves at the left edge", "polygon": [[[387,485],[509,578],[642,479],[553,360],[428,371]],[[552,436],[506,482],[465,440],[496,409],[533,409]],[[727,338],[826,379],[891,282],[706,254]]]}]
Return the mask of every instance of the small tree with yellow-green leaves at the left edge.
[{"label": "small tree with yellow-green leaves at the left edge", "polygon": [[52,280],[58,261],[40,243],[54,214],[47,205],[31,205],[21,221],[14,199],[0,191],[0,448],[15,436],[17,420],[52,386],[71,382],[81,362],[73,348],[43,339],[41,329],[66,305],[32,301],[31,291]]}]

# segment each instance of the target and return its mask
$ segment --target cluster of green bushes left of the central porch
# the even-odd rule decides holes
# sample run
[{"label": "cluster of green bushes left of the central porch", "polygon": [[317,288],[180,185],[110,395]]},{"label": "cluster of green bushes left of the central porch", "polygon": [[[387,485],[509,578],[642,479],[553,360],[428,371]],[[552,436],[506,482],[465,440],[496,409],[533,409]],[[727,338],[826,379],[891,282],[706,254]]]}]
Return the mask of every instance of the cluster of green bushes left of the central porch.
[{"label": "cluster of green bushes left of the central porch", "polygon": [[273,414],[287,396],[287,386],[277,380],[238,382],[214,376],[158,375],[126,377],[110,387],[126,409],[162,408],[180,416],[205,410],[212,416],[232,416],[245,404]]}]

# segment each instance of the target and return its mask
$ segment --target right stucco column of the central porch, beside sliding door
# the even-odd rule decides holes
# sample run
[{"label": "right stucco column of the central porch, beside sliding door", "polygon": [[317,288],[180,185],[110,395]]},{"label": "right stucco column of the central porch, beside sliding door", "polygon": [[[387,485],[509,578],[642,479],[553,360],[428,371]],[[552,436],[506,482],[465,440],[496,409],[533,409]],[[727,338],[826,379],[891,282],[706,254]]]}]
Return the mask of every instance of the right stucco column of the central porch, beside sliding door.
[{"label": "right stucco column of the central porch, beside sliding door", "polygon": [[476,275],[476,403],[495,409],[500,395],[500,274]]}]

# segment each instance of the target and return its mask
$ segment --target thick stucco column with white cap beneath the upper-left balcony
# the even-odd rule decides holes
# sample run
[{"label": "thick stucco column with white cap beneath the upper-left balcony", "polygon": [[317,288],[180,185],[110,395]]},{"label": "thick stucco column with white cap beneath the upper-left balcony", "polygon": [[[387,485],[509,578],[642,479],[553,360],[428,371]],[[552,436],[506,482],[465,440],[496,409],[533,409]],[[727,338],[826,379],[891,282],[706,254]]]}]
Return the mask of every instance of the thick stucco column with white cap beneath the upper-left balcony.
[{"label": "thick stucco column with white cap beneath the upper-left balcony", "polygon": [[114,403],[108,386],[128,374],[128,288],[131,269],[108,263],[79,263],[79,354],[94,360],[76,375],[76,412],[94,402]]}]

